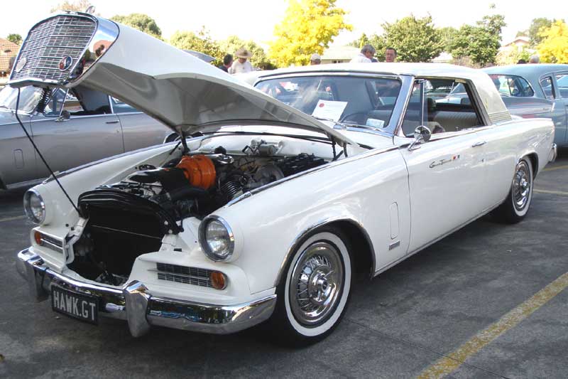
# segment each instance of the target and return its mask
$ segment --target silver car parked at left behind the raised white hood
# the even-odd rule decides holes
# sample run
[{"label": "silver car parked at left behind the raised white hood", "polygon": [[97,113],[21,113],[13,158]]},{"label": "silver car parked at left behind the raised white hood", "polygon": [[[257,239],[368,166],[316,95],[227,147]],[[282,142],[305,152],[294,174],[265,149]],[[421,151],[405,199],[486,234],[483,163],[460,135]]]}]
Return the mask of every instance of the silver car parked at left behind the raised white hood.
[{"label": "silver car parked at left behind the raised white hood", "polygon": [[[18,90],[0,90],[0,189],[29,186],[48,169],[16,119]],[[168,140],[171,129],[102,92],[23,87],[18,117],[53,171]]]}]

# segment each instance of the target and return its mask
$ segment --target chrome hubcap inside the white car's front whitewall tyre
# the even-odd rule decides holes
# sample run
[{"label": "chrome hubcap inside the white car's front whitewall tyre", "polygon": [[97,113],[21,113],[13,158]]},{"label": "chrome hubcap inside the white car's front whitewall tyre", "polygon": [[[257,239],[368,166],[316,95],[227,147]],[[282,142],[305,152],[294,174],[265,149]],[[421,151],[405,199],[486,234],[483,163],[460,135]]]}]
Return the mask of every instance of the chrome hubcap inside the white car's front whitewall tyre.
[{"label": "chrome hubcap inside the white car's front whitewall tyre", "polygon": [[344,272],[337,247],[317,242],[298,258],[290,279],[290,308],[303,325],[326,321],[337,305]]}]

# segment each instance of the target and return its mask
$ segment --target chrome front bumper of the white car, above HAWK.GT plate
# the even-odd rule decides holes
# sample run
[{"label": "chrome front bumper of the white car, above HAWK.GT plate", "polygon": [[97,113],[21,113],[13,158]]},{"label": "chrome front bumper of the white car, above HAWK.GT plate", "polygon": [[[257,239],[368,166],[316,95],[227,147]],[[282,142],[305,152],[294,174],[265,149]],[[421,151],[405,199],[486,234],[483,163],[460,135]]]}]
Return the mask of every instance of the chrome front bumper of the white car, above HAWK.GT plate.
[{"label": "chrome front bumper of the white car, above HAWK.GT plate", "polygon": [[122,289],[79,282],[49,269],[28,249],[18,252],[18,272],[28,281],[30,295],[36,301],[48,299],[51,284],[99,299],[99,316],[128,321],[132,336],[147,333],[151,325],[173,329],[227,334],[247,329],[268,319],[276,304],[276,295],[234,306],[202,304],[153,297],[143,283],[134,280]]}]

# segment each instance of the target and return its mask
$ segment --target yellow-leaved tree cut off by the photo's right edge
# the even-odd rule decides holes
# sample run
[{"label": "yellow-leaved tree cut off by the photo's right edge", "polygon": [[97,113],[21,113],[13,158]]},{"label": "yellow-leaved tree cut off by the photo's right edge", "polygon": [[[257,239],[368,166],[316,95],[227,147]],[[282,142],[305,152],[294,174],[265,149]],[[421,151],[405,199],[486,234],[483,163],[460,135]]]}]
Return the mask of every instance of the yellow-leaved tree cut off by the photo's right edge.
[{"label": "yellow-leaved tree cut off by the photo's right edge", "polygon": [[542,41],[537,46],[542,63],[568,63],[568,25],[555,21],[540,31]]}]

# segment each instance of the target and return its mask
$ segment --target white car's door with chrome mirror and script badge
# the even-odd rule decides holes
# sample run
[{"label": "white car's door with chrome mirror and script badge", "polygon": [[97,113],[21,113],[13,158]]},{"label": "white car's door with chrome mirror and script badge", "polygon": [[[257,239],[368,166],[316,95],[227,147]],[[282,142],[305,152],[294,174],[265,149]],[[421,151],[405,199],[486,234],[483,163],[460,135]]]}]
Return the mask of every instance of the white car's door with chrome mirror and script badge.
[{"label": "white car's door with chrome mirror and script badge", "polygon": [[[414,94],[423,91],[415,85]],[[476,218],[483,210],[485,165],[474,125],[476,114],[457,112],[471,105],[442,103],[435,110],[423,96],[410,97],[402,130],[408,137],[415,126],[432,130],[430,142],[409,146],[413,139],[395,137],[408,169],[412,253]],[[445,107],[445,108],[444,108]],[[452,121],[453,120],[453,121]],[[445,132],[444,132],[445,130]]]}]

